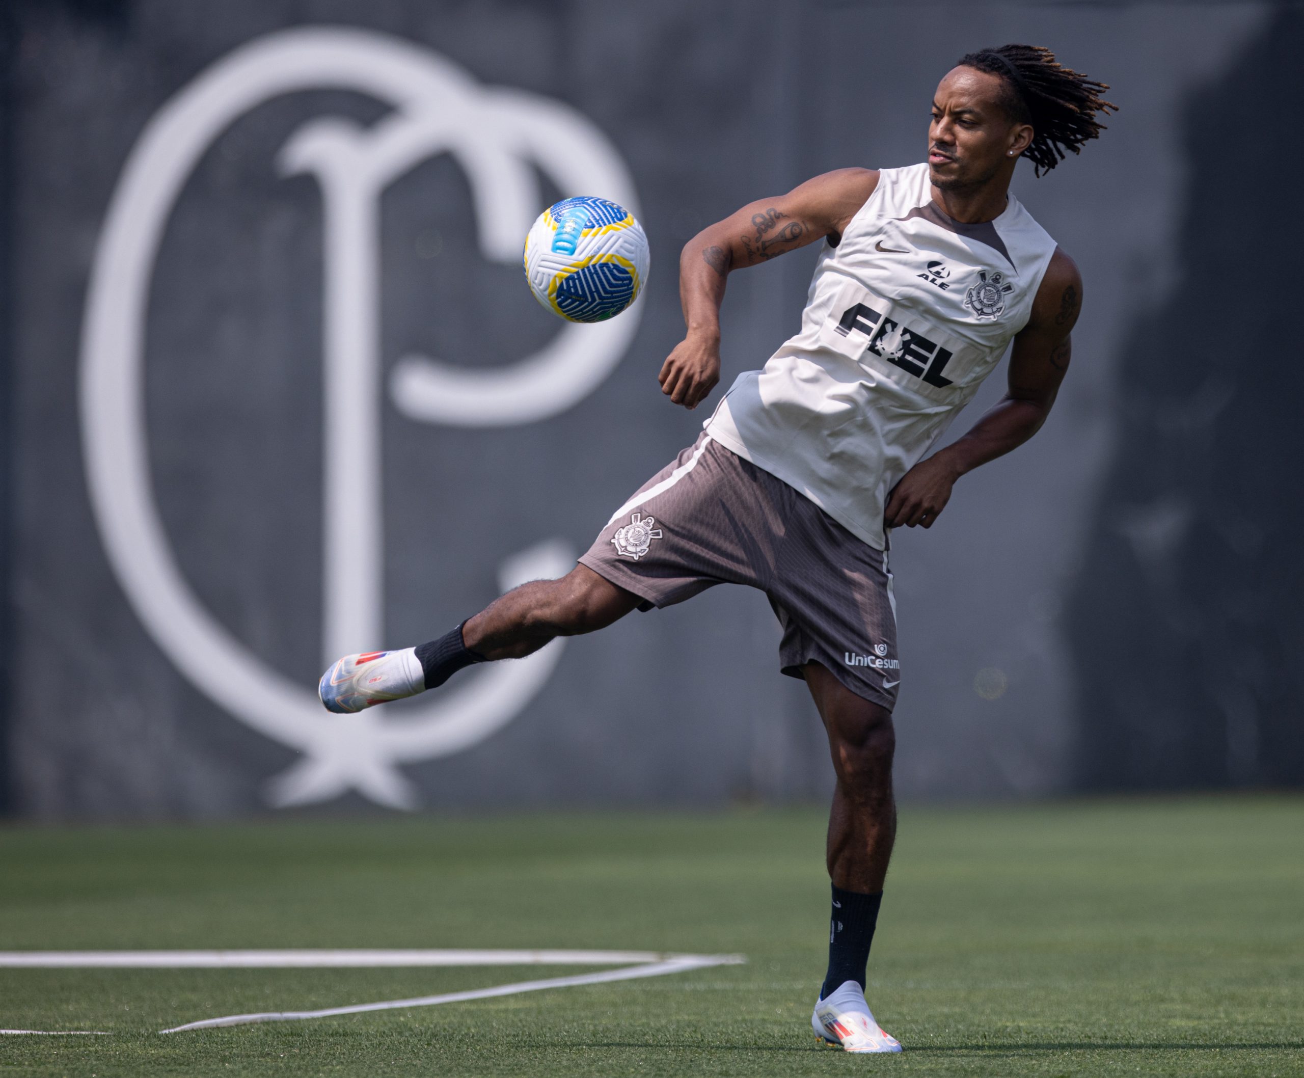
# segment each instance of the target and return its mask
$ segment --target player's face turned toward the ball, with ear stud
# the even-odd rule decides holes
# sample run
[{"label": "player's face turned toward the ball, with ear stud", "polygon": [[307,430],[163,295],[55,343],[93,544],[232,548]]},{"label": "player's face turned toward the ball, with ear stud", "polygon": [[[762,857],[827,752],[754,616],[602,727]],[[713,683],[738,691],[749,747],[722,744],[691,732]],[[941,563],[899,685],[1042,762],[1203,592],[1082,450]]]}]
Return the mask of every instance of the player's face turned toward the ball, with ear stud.
[{"label": "player's face turned toward the ball, with ear stud", "polygon": [[[1001,106],[1001,80],[953,68],[938,83],[928,125],[928,173],[941,190],[981,188],[1011,167],[1033,139]],[[1013,151],[1013,155],[1011,155]]]}]

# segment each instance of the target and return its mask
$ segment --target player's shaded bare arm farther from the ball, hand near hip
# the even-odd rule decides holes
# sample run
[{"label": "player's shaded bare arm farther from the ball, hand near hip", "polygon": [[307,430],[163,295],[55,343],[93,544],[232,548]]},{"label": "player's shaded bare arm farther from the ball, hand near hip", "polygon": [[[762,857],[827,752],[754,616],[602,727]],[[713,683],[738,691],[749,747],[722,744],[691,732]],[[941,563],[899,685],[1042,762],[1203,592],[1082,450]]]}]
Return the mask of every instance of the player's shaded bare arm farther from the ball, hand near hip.
[{"label": "player's shaded bare arm farther from the ball, hand near hip", "polygon": [[1031,318],[1011,348],[1005,395],[964,438],[906,472],[888,499],[884,521],[889,528],[931,528],[951,501],[956,480],[1041,430],[1068,371],[1071,332],[1081,306],[1082,276],[1073,259],[1056,250],[1037,289]]}]

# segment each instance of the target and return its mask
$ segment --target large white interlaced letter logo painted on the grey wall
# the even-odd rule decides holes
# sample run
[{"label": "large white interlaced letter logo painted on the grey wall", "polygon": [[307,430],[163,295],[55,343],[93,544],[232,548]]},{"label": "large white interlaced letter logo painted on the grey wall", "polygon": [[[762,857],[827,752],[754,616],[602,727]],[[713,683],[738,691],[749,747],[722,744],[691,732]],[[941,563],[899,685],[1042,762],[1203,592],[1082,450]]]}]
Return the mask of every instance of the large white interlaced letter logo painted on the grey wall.
[{"label": "large white interlaced letter logo painted on the grey wall", "polygon": [[[301,126],[280,151],[284,173],[310,172],[325,212],[325,639],[322,665],[385,643],[381,609],[378,214],[382,192],[420,162],[450,154],[466,171],[480,248],[515,265],[539,210],[535,167],[565,194],[597,194],[638,211],[615,149],[567,106],[476,83],[411,43],[349,29],[288,30],[254,40],[170,100],[132,150],[95,254],[82,330],[81,416],[95,517],[110,562],[173,663],[231,714],[301,751],[273,779],[288,806],[359,790],[411,807],[404,761],[466,750],[510,722],[542,688],[562,641],[467,671],[446,693],[400,716],[325,712],[312,686],[269,669],[200,604],[183,577],[154,501],[143,418],[143,339],[154,261],[176,198],[211,142],[279,94],[353,90],[394,111],[364,128],[333,117]],[[411,418],[455,426],[526,424],[576,404],[612,371],[639,306],[593,326],[567,325],[509,366],[400,358],[389,392]],[[196,332],[202,332],[196,327]],[[503,589],[559,576],[574,551],[545,540],[499,570]]]}]

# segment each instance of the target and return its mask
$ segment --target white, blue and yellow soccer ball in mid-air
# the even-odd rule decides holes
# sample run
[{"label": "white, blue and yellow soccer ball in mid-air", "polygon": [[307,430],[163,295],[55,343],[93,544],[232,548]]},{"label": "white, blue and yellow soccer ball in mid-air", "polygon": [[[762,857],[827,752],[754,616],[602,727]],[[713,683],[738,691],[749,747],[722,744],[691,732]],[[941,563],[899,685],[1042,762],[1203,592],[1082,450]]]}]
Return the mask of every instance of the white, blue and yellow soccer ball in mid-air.
[{"label": "white, blue and yellow soccer ball in mid-air", "polygon": [[605,198],[566,198],[526,236],[526,280],[553,314],[602,322],[632,304],[648,279],[648,237]]}]

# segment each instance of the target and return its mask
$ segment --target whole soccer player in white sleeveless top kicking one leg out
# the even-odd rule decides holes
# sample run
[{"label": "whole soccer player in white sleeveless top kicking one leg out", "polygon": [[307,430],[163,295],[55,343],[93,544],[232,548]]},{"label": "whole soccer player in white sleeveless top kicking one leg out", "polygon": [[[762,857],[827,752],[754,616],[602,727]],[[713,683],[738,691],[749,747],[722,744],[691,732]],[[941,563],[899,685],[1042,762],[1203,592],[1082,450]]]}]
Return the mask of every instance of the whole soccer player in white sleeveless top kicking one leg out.
[{"label": "whole soccer player in white sleeveless top kicking one leg out", "polygon": [[[810,687],[837,777],[829,961],[811,1022],[848,1052],[901,1051],[865,1001],[896,834],[888,532],[931,528],[956,480],[1031,438],[1055,403],[1082,280],[1009,181],[1020,158],[1041,176],[1095,138],[1114,108],[1106,89],[1046,48],[969,53],[938,86],[926,163],[816,176],[690,240],[687,334],[660,374],[673,403],[696,408],[719,381],[729,274],[823,241],[801,332],[738,377],[696,443],[567,576],[516,588],[439,640],[342,658],[321,680],[329,709],[356,712],[715,584],[765,592],[780,667]],[[1011,343],[1005,396],[928,455]]]}]

